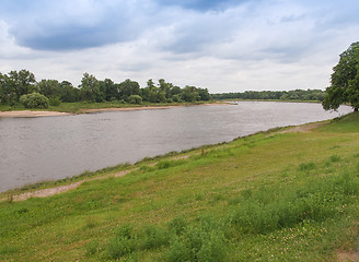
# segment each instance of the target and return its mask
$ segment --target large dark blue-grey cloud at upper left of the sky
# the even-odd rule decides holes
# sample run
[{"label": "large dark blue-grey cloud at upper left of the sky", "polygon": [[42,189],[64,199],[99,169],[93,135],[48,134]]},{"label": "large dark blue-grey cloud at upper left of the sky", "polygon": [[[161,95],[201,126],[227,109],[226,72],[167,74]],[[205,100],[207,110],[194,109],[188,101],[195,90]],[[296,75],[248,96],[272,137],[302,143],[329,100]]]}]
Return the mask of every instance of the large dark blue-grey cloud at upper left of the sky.
[{"label": "large dark blue-grey cloud at upper left of the sky", "polygon": [[[128,1],[99,1],[79,5],[76,1],[63,1],[63,7],[54,2],[39,9],[38,2],[48,2],[31,1],[33,5],[28,2],[28,10],[8,4],[8,9],[16,11],[12,16],[4,17],[15,41],[35,50],[77,50],[129,41],[150,26],[152,14],[151,10],[144,10],[144,5],[132,5]],[[77,8],[78,11],[72,10]],[[149,15],[143,15],[144,11]]]}]

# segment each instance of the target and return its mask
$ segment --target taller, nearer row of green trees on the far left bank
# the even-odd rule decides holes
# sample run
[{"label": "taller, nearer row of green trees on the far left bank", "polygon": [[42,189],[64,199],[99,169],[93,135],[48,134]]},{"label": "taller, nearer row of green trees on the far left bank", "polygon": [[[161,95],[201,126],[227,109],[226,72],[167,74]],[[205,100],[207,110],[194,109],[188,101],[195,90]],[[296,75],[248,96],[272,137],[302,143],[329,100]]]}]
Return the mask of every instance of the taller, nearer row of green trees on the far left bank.
[{"label": "taller, nearer row of green trees on the far left bank", "polygon": [[40,80],[37,82],[35,75],[27,70],[0,73],[0,104],[15,105],[21,102],[22,96],[33,93],[47,97],[50,104],[61,102],[195,103],[210,99],[207,88],[192,85],[181,88],[163,79],[158,83],[149,80],[146,87],[140,87],[138,82],[130,79],[114,83],[111,79],[100,81],[94,75],[84,73],[81,84],[76,87],[69,81]]}]

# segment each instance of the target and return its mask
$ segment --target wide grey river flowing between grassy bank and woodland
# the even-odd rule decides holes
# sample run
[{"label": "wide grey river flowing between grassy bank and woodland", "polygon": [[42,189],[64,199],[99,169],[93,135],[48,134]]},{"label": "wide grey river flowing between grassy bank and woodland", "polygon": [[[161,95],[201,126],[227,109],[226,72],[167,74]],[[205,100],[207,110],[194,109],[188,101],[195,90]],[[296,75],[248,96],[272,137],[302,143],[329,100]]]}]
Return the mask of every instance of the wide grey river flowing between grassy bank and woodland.
[{"label": "wide grey river flowing between grassy bank and woodland", "polygon": [[320,104],[240,102],[238,105],[0,118],[0,192],[171,151],[232,141],[276,127],[338,117]]}]

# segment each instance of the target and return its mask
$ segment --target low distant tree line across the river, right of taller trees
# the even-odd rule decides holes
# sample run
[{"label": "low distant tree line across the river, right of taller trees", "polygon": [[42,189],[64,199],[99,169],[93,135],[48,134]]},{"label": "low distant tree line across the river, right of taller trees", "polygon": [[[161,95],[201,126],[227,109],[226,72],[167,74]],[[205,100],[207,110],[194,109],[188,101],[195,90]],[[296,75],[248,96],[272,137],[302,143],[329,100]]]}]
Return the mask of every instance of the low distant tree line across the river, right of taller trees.
[{"label": "low distant tree line across the river, right of taller trees", "polygon": [[246,91],[242,93],[211,94],[211,98],[220,99],[253,99],[253,100],[324,100],[325,92],[321,90],[294,91]]}]

